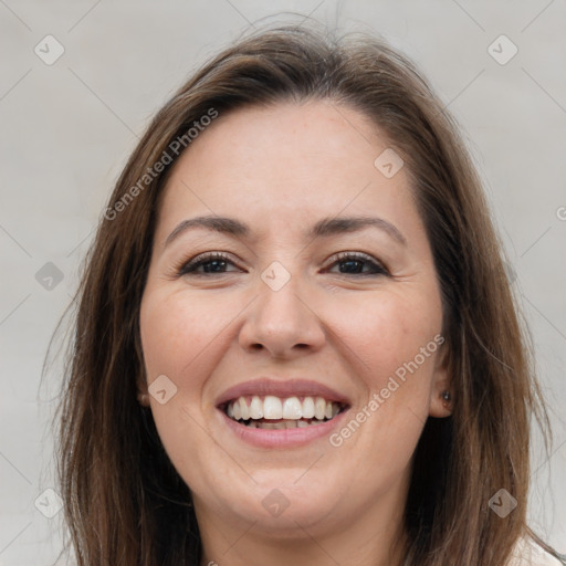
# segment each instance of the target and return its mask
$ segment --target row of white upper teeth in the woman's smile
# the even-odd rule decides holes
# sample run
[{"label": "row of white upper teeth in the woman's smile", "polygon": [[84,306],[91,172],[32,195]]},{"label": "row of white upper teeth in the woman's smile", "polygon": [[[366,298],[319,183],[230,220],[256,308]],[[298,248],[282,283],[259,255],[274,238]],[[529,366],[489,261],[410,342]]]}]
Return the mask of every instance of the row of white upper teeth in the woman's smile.
[{"label": "row of white upper teeth in the woman's smile", "polygon": [[239,397],[228,403],[227,413],[235,420],[248,419],[332,419],[340,410],[340,405],[327,401],[323,397],[287,397],[280,399],[268,395],[263,399],[258,395],[251,398]]}]

